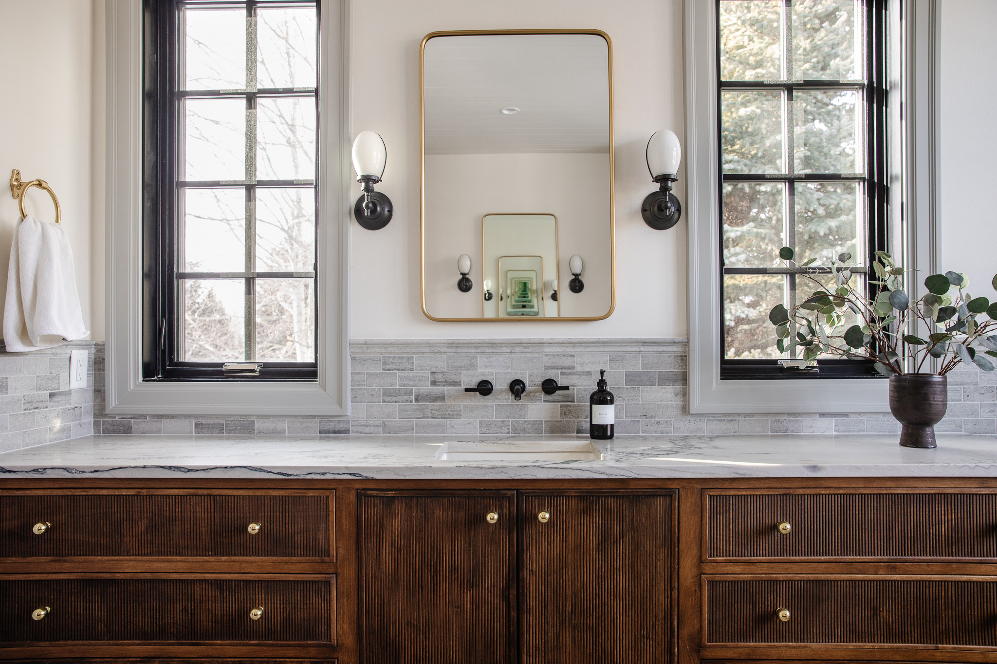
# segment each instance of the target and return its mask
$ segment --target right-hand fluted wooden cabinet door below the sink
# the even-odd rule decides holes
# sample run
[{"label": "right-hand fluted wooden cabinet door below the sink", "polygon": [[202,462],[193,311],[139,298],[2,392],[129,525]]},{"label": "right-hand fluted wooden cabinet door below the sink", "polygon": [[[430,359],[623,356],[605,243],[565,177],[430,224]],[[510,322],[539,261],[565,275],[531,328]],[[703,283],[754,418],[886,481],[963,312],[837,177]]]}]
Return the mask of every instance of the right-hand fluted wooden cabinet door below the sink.
[{"label": "right-hand fluted wooden cabinet door below the sink", "polygon": [[521,494],[521,664],[673,662],[676,497]]}]

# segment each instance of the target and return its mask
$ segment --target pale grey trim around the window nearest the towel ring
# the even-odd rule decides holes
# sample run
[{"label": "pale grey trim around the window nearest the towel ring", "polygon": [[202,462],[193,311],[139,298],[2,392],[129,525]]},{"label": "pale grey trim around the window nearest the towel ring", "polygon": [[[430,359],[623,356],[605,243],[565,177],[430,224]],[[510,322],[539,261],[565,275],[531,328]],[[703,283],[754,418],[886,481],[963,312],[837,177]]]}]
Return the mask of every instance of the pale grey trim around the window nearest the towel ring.
[{"label": "pale grey trim around the window nearest the towel ring", "polygon": [[349,0],[321,0],[318,381],[142,380],[142,0],[108,0],[107,373],[111,414],[345,416],[349,406]]}]

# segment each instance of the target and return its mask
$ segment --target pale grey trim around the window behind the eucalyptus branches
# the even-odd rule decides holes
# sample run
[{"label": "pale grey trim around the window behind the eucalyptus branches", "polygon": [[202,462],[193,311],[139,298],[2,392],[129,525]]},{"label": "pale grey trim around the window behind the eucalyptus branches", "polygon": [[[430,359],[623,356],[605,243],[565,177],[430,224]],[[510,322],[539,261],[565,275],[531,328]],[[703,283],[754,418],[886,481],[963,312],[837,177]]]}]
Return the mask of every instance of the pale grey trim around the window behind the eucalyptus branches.
[{"label": "pale grey trim around the window behind the eucalyptus branches", "polygon": [[[903,121],[892,127],[901,146],[891,182],[891,227],[906,267],[933,268],[937,256],[934,202],[935,0],[891,3],[891,41],[902,36],[902,82],[890,108],[902,101]],[[717,162],[717,31],[714,2],[685,1],[686,219],[689,239],[689,411],[692,413],[887,412],[887,381],[721,380],[720,205]],[[897,30],[897,28],[899,28]],[[915,112],[916,111],[916,112]],[[895,152],[894,152],[895,155]],[[915,169],[914,164],[920,164]],[[897,198],[899,197],[899,198]],[[899,220],[903,202],[906,218]],[[916,285],[910,293],[918,296]]]}]

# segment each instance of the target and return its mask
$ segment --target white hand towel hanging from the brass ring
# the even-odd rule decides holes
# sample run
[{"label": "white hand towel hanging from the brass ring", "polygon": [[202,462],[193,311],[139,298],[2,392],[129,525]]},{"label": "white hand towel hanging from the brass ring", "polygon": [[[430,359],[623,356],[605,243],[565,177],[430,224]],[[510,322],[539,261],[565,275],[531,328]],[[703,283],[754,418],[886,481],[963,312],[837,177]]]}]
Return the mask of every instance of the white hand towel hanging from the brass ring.
[{"label": "white hand towel hanging from the brass ring", "polygon": [[31,215],[14,230],[7,271],[3,340],[24,352],[84,338],[73,250],[66,232]]}]

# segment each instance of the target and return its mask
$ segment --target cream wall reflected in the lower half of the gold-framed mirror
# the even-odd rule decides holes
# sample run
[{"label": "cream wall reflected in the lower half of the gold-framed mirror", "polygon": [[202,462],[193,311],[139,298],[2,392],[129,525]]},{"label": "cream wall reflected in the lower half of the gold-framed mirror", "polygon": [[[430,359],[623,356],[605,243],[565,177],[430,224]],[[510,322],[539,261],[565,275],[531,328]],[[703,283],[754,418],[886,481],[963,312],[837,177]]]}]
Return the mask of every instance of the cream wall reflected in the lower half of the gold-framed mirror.
[{"label": "cream wall reflected in the lower half of the gold-framed mirror", "polygon": [[[545,280],[558,279],[566,289],[571,279],[568,259],[578,254],[585,262],[585,289],[578,294],[563,290],[560,316],[605,316],[611,300],[609,155],[605,153],[427,155],[426,310],[430,314],[437,318],[482,316],[482,217],[527,212],[557,218],[560,274],[553,274],[551,252],[544,265]],[[475,288],[467,294],[457,290],[461,254],[468,254],[472,261]],[[492,263],[490,267],[494,271],[497,266]],[[491,279],[498,289],[498,277]],[[492,305],[498,311],[498,300]]]}]

